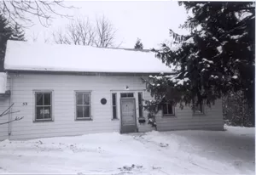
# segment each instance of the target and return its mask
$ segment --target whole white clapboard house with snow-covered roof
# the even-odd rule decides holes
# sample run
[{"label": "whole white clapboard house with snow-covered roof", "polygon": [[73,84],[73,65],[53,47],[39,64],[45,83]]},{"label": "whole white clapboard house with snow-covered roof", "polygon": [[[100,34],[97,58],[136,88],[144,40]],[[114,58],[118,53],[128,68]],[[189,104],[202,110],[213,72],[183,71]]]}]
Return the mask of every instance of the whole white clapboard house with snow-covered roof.
[{"label": "whole white clapboard house with snow-covered roof", "polygon": [[[14,106],[0,123],[24,118],[0,125],[0,139],[148,132],[154,128],[142,99],[151,96],[141,77],[172,73],[151,52],[16,41],[8,41],[4,69],[0,111]],[[159,131],[224,129],[220,100],[200,111],[164,109],[156,116]]]}]

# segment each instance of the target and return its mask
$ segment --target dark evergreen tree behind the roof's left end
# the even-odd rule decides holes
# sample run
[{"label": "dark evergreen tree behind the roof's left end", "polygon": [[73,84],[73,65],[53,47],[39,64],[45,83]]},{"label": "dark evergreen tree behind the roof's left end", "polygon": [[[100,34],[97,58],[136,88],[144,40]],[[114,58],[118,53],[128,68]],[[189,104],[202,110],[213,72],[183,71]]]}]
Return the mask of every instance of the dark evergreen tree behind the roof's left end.
[{"label": "dark evergreen tree behind the roof's left end", "polygon": [[17,24],[14,26],[9,25],[8,21],[0,14],[0,72],[3,71],[7,40],[24,41],[24,31]]}]

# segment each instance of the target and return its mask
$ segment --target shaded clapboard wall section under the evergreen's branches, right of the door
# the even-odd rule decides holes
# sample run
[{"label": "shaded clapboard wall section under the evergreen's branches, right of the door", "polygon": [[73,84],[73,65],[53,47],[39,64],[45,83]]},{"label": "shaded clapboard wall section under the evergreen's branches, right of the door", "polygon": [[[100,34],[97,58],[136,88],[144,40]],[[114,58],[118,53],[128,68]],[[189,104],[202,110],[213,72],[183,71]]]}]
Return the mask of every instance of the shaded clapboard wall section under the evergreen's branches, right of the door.
[{"label": "shaded clapboard wall section under the evergreen's branches, right of the door", "polygon": [[219,99],[211,108],[205,106],[204,115],[194,115],[191,107],[186,106],[181,110],[175,107],[175,116],[156,117],[158,131],[181,129],[224,130],[222,101]]}]

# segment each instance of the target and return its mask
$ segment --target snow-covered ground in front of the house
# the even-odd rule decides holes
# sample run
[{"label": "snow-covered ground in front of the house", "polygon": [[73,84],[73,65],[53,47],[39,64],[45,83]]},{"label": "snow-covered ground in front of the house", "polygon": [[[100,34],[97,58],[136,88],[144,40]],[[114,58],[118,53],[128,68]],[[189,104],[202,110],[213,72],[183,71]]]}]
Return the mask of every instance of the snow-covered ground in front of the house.
[{"label": "snow-covered ground in front of the house", "polygon": [[0,142],[2,173],[254,174],[254,128]]}]

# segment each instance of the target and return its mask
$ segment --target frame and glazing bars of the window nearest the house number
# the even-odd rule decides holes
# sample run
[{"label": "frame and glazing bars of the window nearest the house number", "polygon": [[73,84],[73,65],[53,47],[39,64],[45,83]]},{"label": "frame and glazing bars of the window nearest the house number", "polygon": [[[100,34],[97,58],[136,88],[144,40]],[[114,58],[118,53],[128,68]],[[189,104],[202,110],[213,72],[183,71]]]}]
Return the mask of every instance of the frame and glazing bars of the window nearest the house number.
[{"label": "frame and glazing bars of the window nearest the house number", "polygon": [[[37,94],[38,93],[49,93],[50,94],[50,105],[44,105],[44,95],[43,95],[43,105],[38,105],[37,104]],[[53,93],[53,90],[33,90],[33,99],[34,99],[34,101],[33,101],[33,105],[34,105],[34,114],[33,114],[33,121],[34,122],[44,122],[44,121],[54,121],[54,116],[53,116],[53,114],[54,114],[54,112],[53,112],[53,106],[54,106],[54,104],[53,104],[53,96],[54,96],[54,93]],[[44,107],[44,106],[46,106],[46,107],[49,107],[49,109],[50,109],[50,113],[49,113],[49,115],[50,115],[50,118],[43,118],[43,119],[38,119],[37,118],[37,109],[38,109],[38,107]]]}]

